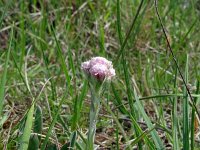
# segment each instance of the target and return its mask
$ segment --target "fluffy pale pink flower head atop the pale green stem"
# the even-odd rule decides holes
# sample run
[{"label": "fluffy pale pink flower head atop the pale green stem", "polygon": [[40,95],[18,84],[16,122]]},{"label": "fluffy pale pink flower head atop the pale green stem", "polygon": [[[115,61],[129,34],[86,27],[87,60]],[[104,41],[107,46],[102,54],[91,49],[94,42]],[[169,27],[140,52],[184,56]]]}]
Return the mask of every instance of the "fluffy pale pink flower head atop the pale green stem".
[{"label": "fluffy pale pink flower head atop the pale green stem", "polygon": [[103,57],[93,57],[91,60],[83,62],[81,68],[86,74],[91,75],[99,81],[110,80],[115,76],[112,62]]}]

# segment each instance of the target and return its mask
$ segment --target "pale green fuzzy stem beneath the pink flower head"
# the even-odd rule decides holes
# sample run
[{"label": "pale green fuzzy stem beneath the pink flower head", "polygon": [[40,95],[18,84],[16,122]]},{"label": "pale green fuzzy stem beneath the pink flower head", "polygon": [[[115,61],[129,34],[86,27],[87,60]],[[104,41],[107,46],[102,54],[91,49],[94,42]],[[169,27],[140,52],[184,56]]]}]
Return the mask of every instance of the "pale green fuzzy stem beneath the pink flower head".
[{"label": "pale green fuzzy stem beneath the pink flower head", "polygon": [[90,125],[88,133],[87,150],[94,150],[94,139],[96,133],[97,117],[100,109],[99,88],[90,85],[91,90],[91,106],[90,106]]}]

